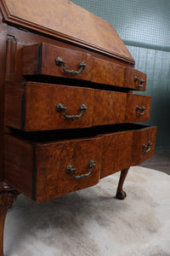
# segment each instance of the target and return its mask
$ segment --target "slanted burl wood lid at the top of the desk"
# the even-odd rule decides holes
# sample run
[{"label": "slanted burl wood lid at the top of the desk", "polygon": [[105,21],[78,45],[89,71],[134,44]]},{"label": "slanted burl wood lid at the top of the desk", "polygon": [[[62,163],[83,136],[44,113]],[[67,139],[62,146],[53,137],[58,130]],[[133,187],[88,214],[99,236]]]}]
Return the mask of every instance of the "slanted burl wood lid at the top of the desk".
[{"label": "slanted burl wood lid at the top of the desk", "polygon": [[111,24],[68,0],[0,0],[4,20],[134,64]]}]

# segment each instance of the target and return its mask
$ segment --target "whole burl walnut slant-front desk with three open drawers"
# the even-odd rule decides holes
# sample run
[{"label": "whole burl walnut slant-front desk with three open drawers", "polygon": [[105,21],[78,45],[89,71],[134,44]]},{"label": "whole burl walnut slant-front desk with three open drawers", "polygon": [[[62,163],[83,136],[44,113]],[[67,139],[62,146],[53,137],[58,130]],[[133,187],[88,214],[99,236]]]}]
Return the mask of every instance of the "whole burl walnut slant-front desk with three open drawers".
[{"label": "whole burl walnut slant-front desk with three open drawers", "polygon": [[0,255],[17,195],[41,203],[154,154],[146,74],[110,23],[68,0],[0,0]]}]

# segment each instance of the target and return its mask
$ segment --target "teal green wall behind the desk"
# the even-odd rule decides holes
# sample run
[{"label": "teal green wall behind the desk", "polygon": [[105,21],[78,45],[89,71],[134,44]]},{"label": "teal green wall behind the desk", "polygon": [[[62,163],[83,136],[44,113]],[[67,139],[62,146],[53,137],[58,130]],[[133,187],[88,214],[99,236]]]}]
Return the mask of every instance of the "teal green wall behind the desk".
[{"label": "teal green wall behind the desk", "polygon": [[152,97],[147,124],[158,127],[156,149],[170,150],[170,0],[71,1],[111,22],[135,68],[147,73],[142,93]]}]

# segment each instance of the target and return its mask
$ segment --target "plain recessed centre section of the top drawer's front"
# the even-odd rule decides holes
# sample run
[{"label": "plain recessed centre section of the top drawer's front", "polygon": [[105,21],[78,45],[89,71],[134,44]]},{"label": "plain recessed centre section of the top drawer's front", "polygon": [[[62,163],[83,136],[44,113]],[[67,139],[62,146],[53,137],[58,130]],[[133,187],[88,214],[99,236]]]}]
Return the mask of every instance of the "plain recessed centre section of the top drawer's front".
[{"label": "plain recessed centre section of the top drawer's front", "polygon": [[123,87],[125,68],[110,61],[94,58],[92,82]]}]

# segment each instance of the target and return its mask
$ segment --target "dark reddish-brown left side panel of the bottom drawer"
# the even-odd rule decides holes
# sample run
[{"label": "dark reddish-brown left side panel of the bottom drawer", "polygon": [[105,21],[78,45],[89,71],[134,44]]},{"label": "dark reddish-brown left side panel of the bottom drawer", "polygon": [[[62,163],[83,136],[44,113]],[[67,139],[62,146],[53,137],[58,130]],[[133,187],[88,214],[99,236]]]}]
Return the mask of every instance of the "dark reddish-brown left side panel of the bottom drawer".
[{"label": "dark reddish-brown left side panel of the bottom drawer", "polygon": [[10,135],[4,136],[5,180],[31,198],[33,172],[33,145]]}]

